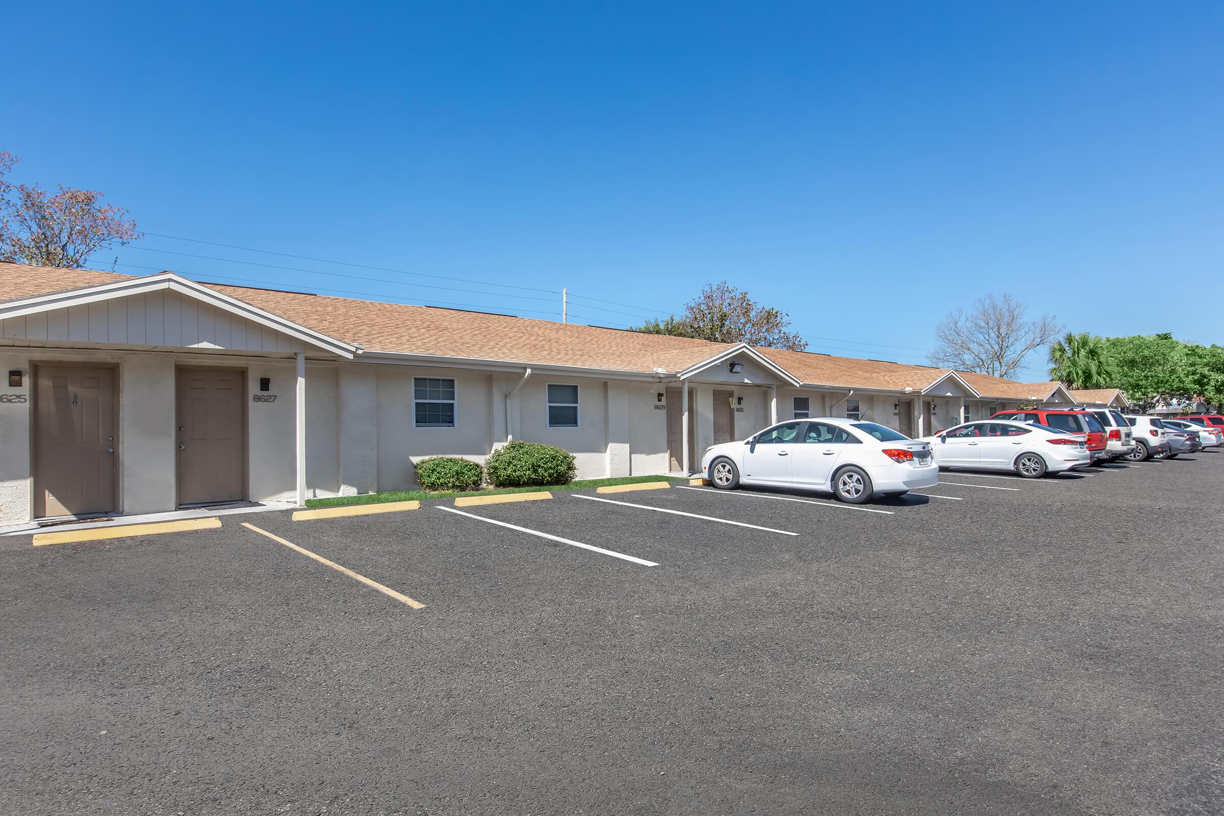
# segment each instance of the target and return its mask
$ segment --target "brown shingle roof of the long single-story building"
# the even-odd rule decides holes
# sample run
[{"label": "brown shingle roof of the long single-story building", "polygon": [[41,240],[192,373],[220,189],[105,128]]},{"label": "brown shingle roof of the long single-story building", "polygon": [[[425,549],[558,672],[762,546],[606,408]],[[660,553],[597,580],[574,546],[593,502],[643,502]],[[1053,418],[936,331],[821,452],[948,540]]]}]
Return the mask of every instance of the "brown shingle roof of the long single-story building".
[{"label": "brown shingle roof of the long single-story building", "polygon": [[[29,297],[131,278],[109,272],[0,263],[0,296],[5,300]],[[203,285],[315,332],[361,344],[367,351],[650,373],[656,367],[668,372],[683,371],[727,349],[723,343],[574,323],[246,286]],[[756,351],[804,383],[835,388],[922,390],[951,371],[782,349]],[[988,374],[958,373],[984,396],[1004,399],[1040,399],[1058,384],[1016,383]]]}]

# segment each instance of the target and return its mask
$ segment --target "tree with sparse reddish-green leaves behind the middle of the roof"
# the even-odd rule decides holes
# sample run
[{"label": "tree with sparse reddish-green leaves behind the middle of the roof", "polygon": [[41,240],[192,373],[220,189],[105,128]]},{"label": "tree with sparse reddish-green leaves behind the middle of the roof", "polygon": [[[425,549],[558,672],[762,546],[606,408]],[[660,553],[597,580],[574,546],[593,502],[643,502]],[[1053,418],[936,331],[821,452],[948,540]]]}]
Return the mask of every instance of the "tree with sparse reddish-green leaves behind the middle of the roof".
[{"label": "tree with sparse reddish-green leaves behind the middle of the roof", "polygon": [[726,280],[706,284],[701,294],[684,306],[684,317],[647,321],[638,327],[650,334],[671,334],[715,343],[748,343],[770,349],[803,351],[808,343],[789,330],[791,316],[761,306],[748,292]]}]

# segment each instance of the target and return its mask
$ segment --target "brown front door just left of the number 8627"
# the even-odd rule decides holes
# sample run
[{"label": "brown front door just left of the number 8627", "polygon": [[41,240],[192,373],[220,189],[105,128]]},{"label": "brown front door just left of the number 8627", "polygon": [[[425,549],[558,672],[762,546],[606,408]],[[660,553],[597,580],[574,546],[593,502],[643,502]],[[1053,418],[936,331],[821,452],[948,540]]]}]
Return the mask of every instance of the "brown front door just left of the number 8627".
[{"label": "brown front door just left of the number 8627", "polygon": [[246,498],[246,373],[179,369],[179,504]]}]

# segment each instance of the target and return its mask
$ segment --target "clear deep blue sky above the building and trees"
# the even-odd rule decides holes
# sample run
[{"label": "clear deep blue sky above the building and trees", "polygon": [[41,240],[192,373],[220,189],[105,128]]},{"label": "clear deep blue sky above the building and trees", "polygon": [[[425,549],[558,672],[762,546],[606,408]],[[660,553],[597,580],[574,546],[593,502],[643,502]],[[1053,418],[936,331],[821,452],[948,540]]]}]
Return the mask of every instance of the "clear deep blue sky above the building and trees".
[{"label": "clear deep blue sky above the building and trees", "polygon": [[[149,232],[568,286],[591,323],[727,279],[849,356],[923,362],[989,291],[1224,343],[1219,2],[337,6],[10,7],[13,179],[103,190]],[[530,317],[559,300],[154,236],[118,257]],[[1192,294],[1162,291],[1177,276]]]}]

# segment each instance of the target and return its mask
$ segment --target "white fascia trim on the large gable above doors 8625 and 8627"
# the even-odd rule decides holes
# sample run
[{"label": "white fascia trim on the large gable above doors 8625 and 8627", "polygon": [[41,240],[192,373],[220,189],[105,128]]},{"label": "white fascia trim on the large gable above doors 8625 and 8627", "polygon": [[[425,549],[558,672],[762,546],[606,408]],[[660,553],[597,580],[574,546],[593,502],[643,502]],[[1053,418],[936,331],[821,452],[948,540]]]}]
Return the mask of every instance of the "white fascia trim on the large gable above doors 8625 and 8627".
[{"label": "white fascia trim on the large gable above doors 8625 and 8627", "polygon": [[266,312],[262,308],[251,306],[250,303],[237,300],[236,297],[223,295],[214,289],[202,286],[196,281],[187,280],[186,278],[176,275],[173,272],[144,275],[142,278],[131,278],[114,284],[84,286],[81,289],[70,289],[61,292],[34,295],[32,297],[21,297],[13,301],[7,301],[0,303],[0,319],[37,314],[39,312],[49,312],[56,308],[67,308],[70,306],[97,303],[100,301],[129,297],[131,295],[140,295],[163,289],[173,290],[181,295],[204,301],[212,306],[223,308],[226,312],[246,318],[252,323],[266,325],[269,329],[297,338],[302,343],[308,343],[312,346],[318,346],[341,357],[351,360],[359,351],[356,346],[344,343],[343,340],[337,340],[335,338],[315,332],[313,329],[307,329],[305,325],[294,323],[293,321],[286,321],[283,317],[278,317],[272,312]]}]

